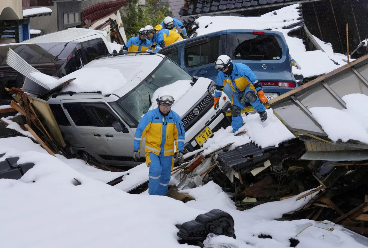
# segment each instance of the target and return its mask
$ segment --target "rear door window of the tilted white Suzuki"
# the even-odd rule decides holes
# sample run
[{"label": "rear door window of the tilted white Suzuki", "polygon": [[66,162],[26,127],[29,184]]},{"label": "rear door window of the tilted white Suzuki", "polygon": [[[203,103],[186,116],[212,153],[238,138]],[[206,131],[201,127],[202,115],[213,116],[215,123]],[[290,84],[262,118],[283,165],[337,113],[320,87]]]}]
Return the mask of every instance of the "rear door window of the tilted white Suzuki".
[{"label": "rear door window of the tilted white Suzuki", "polygon": [[83,103],[63,103],[76,126],[97,126],[88,115]]}]

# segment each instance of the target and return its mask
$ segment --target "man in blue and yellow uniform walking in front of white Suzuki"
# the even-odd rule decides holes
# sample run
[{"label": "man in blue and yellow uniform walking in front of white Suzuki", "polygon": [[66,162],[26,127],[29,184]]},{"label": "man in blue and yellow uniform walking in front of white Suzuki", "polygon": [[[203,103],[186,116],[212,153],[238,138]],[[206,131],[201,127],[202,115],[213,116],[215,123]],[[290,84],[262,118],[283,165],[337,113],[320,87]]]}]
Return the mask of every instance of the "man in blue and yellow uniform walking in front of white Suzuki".
[{"label": "man in blue and yellow uniform walking in front of white Suzuki", "polygon": [[[183,163],[185,131],[180,116],[171,110],[174,98],[162,94],[157,99],[158,107],[148,111],[138,124],[134,135],[133,157],[140,158],[142,140],[146,137],[145,158],[149,167],[148,193],[166,195],[174,157]],[[174,153],[174,143],[176,153]]]}]

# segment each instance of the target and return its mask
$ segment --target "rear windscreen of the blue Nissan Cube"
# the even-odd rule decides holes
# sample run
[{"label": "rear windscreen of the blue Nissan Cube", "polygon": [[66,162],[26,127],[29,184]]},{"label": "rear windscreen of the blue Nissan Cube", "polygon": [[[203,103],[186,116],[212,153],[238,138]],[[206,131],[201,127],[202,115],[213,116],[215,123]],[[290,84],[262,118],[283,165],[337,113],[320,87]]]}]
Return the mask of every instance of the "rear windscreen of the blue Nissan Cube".
[{"label": "rear windscreen of the blue Nissan Cube", "polygon": [[282,45],[273,35],[229,34],[227,47],[234,60],[279,60]]}]

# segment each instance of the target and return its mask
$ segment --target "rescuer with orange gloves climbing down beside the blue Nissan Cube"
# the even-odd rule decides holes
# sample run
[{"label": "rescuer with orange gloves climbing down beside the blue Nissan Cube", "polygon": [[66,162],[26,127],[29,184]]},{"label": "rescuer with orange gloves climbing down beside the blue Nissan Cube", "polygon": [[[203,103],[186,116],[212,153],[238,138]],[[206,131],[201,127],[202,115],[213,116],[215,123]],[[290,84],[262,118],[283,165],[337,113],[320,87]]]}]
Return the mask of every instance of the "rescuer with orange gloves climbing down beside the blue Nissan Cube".
[{"label": "rescuer with orange gloves climbing down beside the blue Nissan Cube", "polygon": [[[215,62],[215,68],[219,73],[217,74],[217,83],[215,87],[215,103],[213,108],[219,107],[219,100],[222,91],[228,83],[231,87],[231,127],[235,133],[241,126],[243,126],[243,118],[240,111],[244,108],[244,104],[249,100],[254,109],[258,111],[261,117],[261,122],[266,121],[267,112],[263,104],[266,104],[267,98],[263,93],[263,88],[257,80],[257,76],[247,66],[241,63],[233,63],[231,58],[227,55],[220,55]],[[258,96],[257,96],[258,94]]]}]

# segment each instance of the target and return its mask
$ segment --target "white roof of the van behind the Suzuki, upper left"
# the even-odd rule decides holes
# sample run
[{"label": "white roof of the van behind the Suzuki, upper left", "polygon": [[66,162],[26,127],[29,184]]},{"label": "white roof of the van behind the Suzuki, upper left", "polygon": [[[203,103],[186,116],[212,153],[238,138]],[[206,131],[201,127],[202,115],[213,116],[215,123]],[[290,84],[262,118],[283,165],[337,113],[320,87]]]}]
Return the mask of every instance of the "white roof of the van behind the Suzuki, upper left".
[{"label": "white roof of the van behind the Suzuki, upper left", "polygon": [[32,39],[25,40],[21,43],[52,43],[52,42],[72,42],[74,40],[79,40],[88,36],[96,35],[98,33],[103,34],[104,37],[107,33],[95,29],[86,28],[69,28],[66,30],[61,30],[54,33],[48,33],[47,35],[41,35],[34,37]]}]

